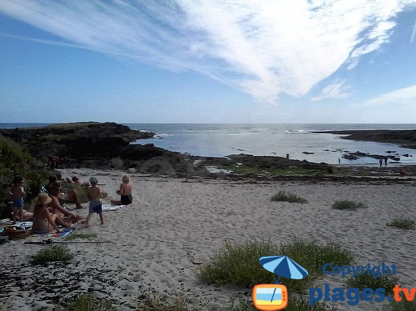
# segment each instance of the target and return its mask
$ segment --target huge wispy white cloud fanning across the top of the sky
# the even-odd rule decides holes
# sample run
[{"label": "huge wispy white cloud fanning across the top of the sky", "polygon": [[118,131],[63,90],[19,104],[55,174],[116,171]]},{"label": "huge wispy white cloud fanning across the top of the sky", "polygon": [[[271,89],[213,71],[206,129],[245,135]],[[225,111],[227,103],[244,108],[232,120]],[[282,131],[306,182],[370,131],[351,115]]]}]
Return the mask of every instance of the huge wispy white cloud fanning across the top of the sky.
[{"label": "huge wispy white cloud fanning across the top of the sky", "polygon": [[275,103],[388,42],[411,2],[0,0],[0,12],[73,47],[197,71]]}]

